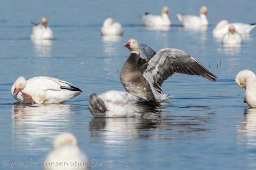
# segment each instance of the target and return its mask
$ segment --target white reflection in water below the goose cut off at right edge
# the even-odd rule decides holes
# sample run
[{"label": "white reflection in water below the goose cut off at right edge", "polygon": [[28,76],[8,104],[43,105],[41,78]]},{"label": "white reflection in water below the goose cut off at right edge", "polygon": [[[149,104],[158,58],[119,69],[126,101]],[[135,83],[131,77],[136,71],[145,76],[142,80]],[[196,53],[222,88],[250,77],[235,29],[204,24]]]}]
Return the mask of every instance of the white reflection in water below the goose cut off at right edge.
[{"label": "white reflection in water below the goose cut off at right edge", "polygon": [[[244,110],[245,120],[242,124],[237,125],[238,132],[242,132],[240,137],[241,143],[245,142],[247,146],[252,146],[255,149],[256,146],[256,108],[245,108]],[[246,138],[243,138],[246,136]]]}]

